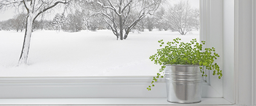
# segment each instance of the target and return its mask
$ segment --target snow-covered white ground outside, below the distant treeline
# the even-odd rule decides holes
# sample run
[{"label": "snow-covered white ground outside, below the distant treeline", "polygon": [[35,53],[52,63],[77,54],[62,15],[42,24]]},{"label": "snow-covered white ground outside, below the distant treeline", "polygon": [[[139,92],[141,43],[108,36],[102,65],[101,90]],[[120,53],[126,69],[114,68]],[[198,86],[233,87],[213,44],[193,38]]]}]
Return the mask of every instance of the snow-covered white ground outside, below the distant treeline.
[{"label": "snow-covered white ground outside, below the distant treeline", "polygon": [[199,40],[199,32],[134,32],[124,41],[109,30],[77,33],[35,31],[28,65],[17,66],[24,32],[0,31],[0,77],[3,76],[149,76],[159,65],[150,61],[160,39]]}]

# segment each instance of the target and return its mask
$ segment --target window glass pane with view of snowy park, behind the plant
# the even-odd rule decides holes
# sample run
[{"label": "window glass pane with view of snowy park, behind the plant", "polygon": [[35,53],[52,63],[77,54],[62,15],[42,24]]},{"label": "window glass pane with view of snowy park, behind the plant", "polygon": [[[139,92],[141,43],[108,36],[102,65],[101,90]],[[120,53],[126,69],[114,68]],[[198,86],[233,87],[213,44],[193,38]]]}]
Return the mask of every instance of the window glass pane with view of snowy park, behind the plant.
[{"label": "window glass pane with view of snowy park, behind the plant", "polygon": [[[24,8],[2,8],[0,77],[152,76],[160,68],[149,59],[160,48],[158,40],[167,42],[179,37],[183,42],[195,38],[199,41],[199,0],[166,0],[159,7],[150,7],[152,10],[143,8],[151,6],[148,1],[157,0],[134,0],[130,5],[126,5],[130,0],[122,1],[121,7],[128,6],[121,14],[122,22],[126,21],[123,37],[129,25],[141,18],[126,39],[120,39],[120,22],[116,21],[118,38],[111,31],[113,22],[109,17],[119,17],[111,9],[101,7],[111,6],[106,0],[90,5],[95,10],[89,10],[89,5],[74,6],[64,13],[65,6],[57,6],[34,21],[26,65],[18,65],[26,25]],[[118,8],[119,0],[110,2]],[[143,18],[139,17],[142,12],[147,13]]]}]

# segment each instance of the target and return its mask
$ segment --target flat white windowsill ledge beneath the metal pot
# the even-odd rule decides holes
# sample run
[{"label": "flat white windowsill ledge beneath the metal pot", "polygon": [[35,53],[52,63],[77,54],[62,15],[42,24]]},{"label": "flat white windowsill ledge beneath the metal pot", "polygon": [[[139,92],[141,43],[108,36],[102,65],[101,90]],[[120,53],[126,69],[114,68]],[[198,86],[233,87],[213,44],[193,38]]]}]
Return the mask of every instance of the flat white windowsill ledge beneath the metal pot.
[{"label": "flat white windowsill ledge beneath the metal pot", "polygon": [[200,103],[169,103],[166,98],[38,98],[0,99],[0,105],[233,105],[224,98],[202,98]]}]

